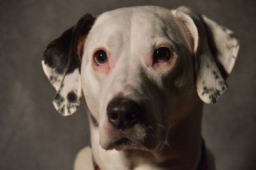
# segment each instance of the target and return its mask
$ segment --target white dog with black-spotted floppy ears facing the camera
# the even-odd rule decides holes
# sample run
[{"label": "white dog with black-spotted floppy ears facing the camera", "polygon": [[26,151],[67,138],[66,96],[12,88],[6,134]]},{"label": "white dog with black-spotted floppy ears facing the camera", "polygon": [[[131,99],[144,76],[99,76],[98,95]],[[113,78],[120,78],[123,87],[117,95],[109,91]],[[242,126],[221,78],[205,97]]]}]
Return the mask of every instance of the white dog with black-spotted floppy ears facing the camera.
[{"label": "white dog with black-spotted floppy ears facing the camera", "polygon": [[42,67],[63,116],[82,101],[91,147],[74,169],[209,169],[204,103],[227,89],[239,41],[184,6],[84,15],[52,41]]}]

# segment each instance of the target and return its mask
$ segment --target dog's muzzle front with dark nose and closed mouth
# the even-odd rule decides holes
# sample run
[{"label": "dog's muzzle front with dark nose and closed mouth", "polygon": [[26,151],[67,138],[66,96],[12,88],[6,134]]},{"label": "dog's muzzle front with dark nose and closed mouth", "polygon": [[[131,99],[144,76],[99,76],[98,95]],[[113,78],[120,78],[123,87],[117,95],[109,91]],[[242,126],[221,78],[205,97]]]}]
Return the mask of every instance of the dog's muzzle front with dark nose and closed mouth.
[{"label": "dog's muzzle front with dark nose and closed mouth", "polygon": [[[116,97],[107,107],[108,127],[106,134],[108,142],[104,145],[106,150],[129,148],[152,148],[154,142],[148,143],[152,129],[147,125],[145,105],[138,101]],[[150,135],[148,135],[150,134]]]}]

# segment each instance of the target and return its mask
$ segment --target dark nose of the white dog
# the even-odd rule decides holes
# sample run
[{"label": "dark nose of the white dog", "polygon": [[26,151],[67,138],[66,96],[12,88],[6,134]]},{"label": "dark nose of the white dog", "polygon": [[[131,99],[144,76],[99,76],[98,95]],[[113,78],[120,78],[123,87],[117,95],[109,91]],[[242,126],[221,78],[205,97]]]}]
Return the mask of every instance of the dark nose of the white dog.
[{"label": "dark nose of the white dog", "polygon": [[108,121],[117,129],[131,128],[141,119],[141,107],[134,101],[115,99],[108,104]]}]

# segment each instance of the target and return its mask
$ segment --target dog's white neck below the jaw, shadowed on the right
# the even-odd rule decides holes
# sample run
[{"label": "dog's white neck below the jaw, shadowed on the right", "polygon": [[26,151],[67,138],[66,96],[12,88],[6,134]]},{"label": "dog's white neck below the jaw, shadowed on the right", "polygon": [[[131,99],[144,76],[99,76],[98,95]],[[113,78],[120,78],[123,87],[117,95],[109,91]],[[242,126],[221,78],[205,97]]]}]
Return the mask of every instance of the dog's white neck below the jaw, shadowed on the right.
[{"label": "dog's white neck below the jaw, shadowed on the right", "polygon": [[101,169],[196,169],[202,152],[203,103],[197,98],[195,100],[198,102],[193,102],[193,106],[188,99],[188,103],[182,101],[185,105],[177,106],[177,116],[173,117],[175,123],[170,127],[166,144],[154,151],[106,151],[97,144],[99,129],[93,127],[90,120],[95,162]]}]

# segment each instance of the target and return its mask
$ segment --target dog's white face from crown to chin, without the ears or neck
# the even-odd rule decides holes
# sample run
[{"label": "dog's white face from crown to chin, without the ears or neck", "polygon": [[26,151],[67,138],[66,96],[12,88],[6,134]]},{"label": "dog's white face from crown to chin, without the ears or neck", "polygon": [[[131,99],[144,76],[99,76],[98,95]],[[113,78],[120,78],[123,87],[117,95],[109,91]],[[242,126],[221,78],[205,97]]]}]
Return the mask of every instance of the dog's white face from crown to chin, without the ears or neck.
[{"label": "dog's white face from crown to chin, without the ears or neck", "polygon": [[193,55],[170,10],[110,11],[86,38],[81,78],[103,148],[155,148],[177,96],[194,88]]}]

